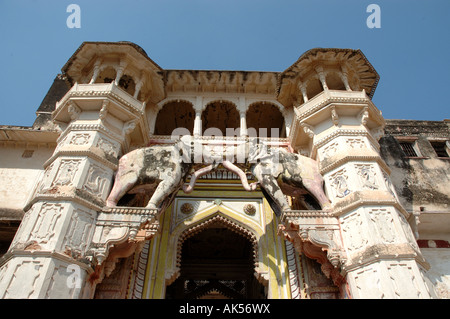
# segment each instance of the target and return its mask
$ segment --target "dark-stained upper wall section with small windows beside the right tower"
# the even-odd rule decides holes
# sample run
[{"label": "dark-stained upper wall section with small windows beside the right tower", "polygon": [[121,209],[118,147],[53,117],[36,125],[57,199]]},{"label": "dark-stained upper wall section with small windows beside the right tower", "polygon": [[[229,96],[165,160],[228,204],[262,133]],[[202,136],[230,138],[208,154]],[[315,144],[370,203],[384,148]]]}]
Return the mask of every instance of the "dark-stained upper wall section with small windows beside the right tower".
[{"label": "dark-stained upper wall section with small windows beside the right tower", "polygon": [[[381,155],[391,168],[391,179],[408,211],[450,213],[450,159],[438,158],[430,140],[449,138],[446,122],[390,120],[381,138]],[[417,157],[403,153],[399,139],[411,138]]]}]

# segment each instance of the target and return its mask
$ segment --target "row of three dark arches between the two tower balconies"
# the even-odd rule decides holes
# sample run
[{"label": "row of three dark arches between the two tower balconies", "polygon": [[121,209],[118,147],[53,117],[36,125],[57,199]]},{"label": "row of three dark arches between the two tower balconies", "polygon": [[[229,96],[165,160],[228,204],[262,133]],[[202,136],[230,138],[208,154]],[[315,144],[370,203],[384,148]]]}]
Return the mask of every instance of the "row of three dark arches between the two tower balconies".
[{"label": "row of three dark arches between the two tower balconies", "polygon": [[[283,105],[265,100],[239,102],[233,99],[203,101],[201,97],[166,99],[157,106],[153,134],[171,135],[176,128],[187,128],[195,136],[220,133],[222,136],[286,137],[290,123],[285,118]],[[271,129],[276,129],[276,133]]]}]

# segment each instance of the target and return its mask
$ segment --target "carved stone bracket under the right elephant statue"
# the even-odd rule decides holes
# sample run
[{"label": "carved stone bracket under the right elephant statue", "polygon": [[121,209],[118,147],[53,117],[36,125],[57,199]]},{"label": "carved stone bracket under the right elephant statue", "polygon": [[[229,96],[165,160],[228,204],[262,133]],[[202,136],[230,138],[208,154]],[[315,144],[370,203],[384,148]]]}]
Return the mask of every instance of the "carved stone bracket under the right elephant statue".
[{"label": "carved stone bracket under the right elephant statue", "polygon": [[324,211],[284,211],[280,234],[304,253],[321,264],[323,273],[336,285],[342,283],[339,268],[345,264],[344,250],[339,244],[339,224],[336,217]]}]

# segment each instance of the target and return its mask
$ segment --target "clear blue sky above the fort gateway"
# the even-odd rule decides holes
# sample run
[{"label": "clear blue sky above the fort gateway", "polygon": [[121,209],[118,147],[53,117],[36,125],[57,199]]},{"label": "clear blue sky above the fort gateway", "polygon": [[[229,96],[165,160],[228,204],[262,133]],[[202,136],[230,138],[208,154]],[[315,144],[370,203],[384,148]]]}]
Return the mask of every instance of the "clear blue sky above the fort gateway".
[{"label": "clear blue sky above the fort gateway", "polygon": [[[71,3],[79,29],[66,25]],[[83,41],[134,42],[164,69],[281,72],[315,47],[361,49],[385,118],[450,118],[450,0],[0,0],[0,38],[0,125],[32,125]]]}]

